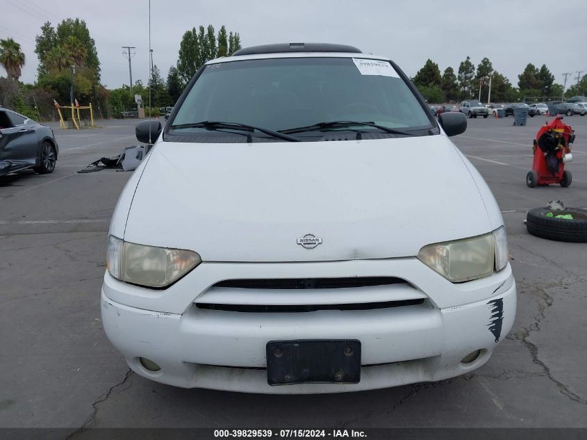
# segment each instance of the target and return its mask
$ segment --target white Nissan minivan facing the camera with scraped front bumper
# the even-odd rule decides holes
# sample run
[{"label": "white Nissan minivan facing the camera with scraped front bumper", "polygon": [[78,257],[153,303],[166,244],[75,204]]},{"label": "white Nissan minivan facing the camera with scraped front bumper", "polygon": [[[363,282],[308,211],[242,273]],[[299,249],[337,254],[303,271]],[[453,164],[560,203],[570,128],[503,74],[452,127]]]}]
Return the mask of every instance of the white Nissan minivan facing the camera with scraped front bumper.
[{"label": "white Nissan minivan facing the camera with scraped front bumper", "polygon": [[513,325],[504,221],[385,56],[270,44],[201,67],[108,236],[108,339],[148,379],[250,393],[443,380]]}]

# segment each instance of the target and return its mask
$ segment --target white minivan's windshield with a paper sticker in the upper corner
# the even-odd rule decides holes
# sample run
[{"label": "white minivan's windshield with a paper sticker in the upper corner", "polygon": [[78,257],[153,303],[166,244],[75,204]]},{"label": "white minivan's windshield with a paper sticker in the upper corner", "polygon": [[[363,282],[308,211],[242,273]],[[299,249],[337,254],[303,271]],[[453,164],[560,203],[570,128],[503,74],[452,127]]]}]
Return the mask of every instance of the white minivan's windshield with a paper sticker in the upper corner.
[{"label": "white minivan's windshield with a paper sticker in the upper corner", "polygon": [[[370,69],[361,61],[374,61],[379,67],[383,63],[385,68]],[[330,122],[344,124],[326,124]],[[188,140],[184,138],[197,141],[198,137],[210,136],[232,136],[244,142],[249,136],[242,136],[227,124],[295,133],[300,140],[320,140],[324,131],[423,136],[436,128],[388,61],[342,57],[267,58],[206,65],[166,133],[178,135],[177,140],[185,142]],[[258,130],[251,136],[277,140]]]}]

